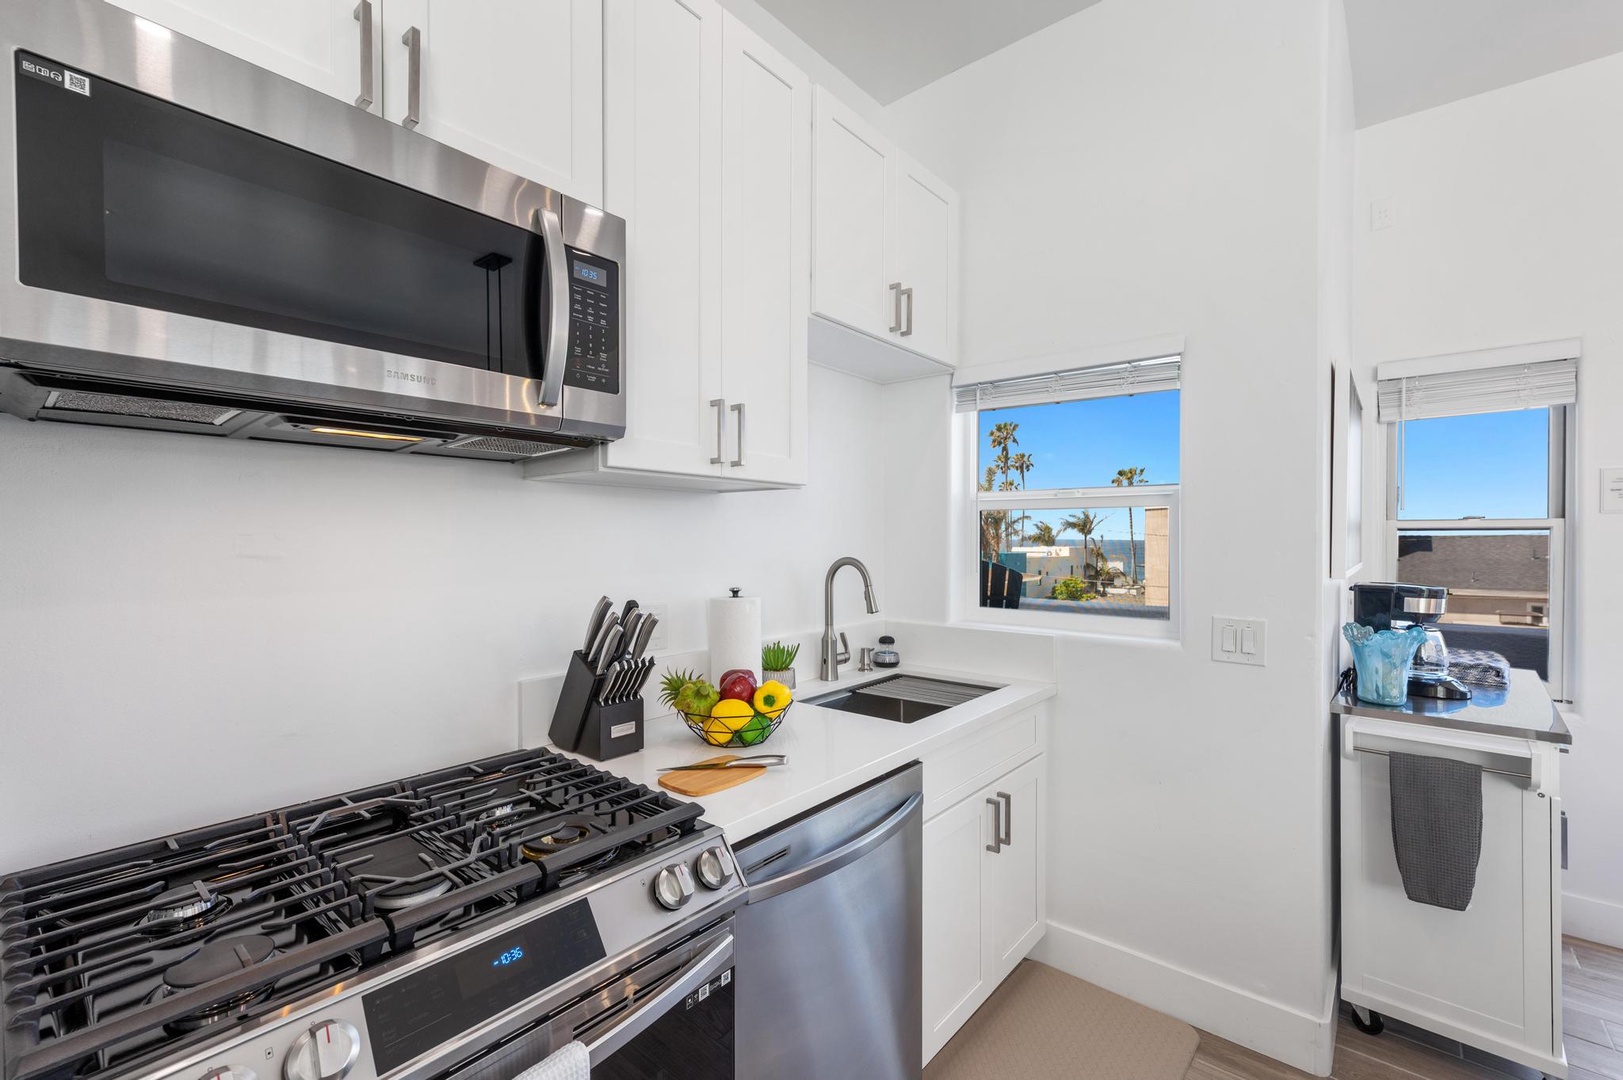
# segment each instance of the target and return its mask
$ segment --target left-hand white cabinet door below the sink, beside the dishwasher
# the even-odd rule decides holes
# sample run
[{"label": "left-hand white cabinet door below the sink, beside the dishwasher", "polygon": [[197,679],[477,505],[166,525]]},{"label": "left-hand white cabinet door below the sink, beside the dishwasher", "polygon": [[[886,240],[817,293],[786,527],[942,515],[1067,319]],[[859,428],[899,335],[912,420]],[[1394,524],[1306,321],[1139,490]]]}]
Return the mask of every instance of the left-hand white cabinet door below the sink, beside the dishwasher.
[{"label": "left-hand white cabinet door below the sink, beside the dishwasher", "polygon": [[990,994],[980,883],[988,843],[992,807],[979,797],[964,799],[923,823],[925,1061]]}]

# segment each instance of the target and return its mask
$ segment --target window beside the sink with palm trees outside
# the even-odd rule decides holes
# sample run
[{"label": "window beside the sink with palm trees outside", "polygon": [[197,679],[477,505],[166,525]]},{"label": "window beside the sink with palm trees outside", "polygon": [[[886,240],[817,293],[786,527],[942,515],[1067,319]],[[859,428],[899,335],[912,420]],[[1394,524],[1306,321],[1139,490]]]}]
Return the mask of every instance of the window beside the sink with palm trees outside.
[{"label": "window beside the sink with palm trees outside", "polygon": [[977,383],[975,604],[1172,620],[1178,357]]}]

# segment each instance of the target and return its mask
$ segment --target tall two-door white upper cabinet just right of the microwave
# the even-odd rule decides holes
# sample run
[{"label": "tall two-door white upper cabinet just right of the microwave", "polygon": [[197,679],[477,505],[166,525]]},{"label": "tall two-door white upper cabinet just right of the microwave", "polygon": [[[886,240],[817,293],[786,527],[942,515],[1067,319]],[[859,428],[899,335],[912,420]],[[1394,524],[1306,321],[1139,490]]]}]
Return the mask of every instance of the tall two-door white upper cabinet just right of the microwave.
[{"label": "tall two-door white upper cabinet just right of the microwave", "polygon": [[812,88],[714,0],[607,0],[604,208],[626,219],[626,434],[532,479],[807,479]]}]

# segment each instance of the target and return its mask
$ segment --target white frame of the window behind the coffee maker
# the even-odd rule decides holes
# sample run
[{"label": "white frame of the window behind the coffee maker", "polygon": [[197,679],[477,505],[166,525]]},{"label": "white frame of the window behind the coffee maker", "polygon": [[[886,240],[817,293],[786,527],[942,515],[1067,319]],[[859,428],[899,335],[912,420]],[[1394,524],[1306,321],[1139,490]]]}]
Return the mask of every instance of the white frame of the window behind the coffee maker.
[{"label": "white frame of the window behind the coffee maker", "polygon": [[[1492,531],[1550,531],[1550,677],[1545,687],[1550,697],[1566,702],[1565,687],[1571,685],[1569,653],[1573,609],[1568,604],[1571,590],[1573,552],[1569,547],[1566,508],[1573,505],[1573,424],[1571,404],[1545,406],[1550,413],[1548,445],[1548,494],[1542,518],[1404,518],[1401,515],[1404,482],[1404,421],[1389,422],[1386,432],[1386,568],[1389,580],[1397,580],[1397,538],[1402,533],[1492,533]],[[1509,411],[1509,409],[1501,409]],[[1409,421],[1417,422],[1417,421]]]}]

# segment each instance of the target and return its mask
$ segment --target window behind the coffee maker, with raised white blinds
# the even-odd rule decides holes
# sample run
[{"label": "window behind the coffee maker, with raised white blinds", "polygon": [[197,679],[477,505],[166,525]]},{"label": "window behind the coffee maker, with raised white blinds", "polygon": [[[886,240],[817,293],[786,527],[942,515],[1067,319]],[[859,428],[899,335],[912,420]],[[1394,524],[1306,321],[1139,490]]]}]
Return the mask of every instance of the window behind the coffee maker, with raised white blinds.
[{"label": "window behind the coffee maker, with raised white blinds", "polygon": [[1448,588],[1438,625],[1449,650],[1500,653],[1560,697],[1578,364],[1482,362],[1495,356],[1475,367],[1438,357],[1444,370],[1415,375],[1381,369],[1394,580]]}]

